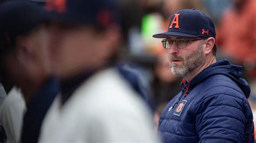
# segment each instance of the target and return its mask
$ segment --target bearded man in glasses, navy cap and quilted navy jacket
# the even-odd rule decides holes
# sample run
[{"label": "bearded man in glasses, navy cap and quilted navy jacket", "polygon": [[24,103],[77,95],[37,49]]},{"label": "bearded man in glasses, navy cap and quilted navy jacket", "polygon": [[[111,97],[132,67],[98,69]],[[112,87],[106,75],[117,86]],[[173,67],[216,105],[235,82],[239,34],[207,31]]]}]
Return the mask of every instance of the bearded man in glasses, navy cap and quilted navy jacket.
[{"label": "bearded man in glasses, navy cap and quilted navy jacket", "polygon": [[254,142],[250,86],[241,66],[216,61],[215,28],[196,9],[175,12],[163,38],[170,69],[183,89],[166,105],[158,132],[164,142]]}]

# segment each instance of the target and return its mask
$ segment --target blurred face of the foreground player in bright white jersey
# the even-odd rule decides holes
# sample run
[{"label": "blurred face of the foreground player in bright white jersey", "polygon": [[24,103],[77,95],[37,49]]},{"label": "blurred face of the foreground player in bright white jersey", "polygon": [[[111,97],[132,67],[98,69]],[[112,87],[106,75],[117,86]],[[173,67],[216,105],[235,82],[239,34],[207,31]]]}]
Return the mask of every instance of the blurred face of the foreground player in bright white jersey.
[{"label": "blurred face of the foreground player in bright white jersey", "polygon": [[51,27],[51,60],[53,72],[65,80],[104,62],[105,39],[89,26]]}]

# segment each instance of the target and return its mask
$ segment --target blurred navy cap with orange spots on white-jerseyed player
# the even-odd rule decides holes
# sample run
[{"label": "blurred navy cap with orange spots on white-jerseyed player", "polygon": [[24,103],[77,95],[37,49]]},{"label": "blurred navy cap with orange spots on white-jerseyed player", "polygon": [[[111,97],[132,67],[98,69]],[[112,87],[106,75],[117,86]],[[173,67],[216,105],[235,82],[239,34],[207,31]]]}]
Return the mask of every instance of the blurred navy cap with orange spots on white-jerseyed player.
[{"label": "blurred navy cap with orange spots on white-jerseyed player", "polygon": [[120,24],[115,0],[47,0],[45,9],[53,22],[99,27]]}]

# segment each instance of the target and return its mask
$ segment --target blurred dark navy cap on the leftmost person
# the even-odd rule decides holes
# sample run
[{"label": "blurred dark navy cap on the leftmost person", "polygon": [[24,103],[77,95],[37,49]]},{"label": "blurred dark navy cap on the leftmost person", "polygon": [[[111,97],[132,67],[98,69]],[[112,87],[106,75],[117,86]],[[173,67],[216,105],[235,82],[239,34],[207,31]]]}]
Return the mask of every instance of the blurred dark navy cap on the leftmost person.
[{"label": "blurred dark navy cap on the leftmost person", "polygon": [[0,5],[0,54],[14,46],[16,38],[26,35],[48,19],[43,6],[28,1]]}]

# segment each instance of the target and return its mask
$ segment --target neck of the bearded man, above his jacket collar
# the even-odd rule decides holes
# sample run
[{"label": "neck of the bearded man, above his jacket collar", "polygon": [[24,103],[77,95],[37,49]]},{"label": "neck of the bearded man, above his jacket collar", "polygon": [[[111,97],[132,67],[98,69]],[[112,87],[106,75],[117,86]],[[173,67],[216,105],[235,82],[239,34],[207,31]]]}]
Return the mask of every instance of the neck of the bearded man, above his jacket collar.
[{"label": "neck of the bearded man, above his jacket collar", "polygon": [[206,61],[203,65],[199,66],[198,68],[194,69],[193,71],[188,72],[184,77],[187,82],[190,82],[194,77],[196,77],[201,71],[203,71],[208,66],[211,66],[213,63],[216,62],[216,57],[214,55],[207,56]]}]

